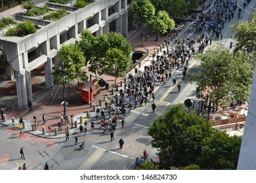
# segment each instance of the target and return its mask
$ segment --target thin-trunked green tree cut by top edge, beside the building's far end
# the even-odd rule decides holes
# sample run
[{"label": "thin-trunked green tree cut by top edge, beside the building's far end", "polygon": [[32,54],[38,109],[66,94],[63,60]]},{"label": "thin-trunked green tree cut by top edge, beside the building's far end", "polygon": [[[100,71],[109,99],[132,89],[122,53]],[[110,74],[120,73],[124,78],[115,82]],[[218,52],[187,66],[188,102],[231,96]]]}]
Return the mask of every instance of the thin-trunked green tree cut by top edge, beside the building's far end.
[{"label": "thin-trunked green tree cut by top edge, beside the building's far end", "polygon": [[155,11],[156,9],[150,0],[134,0],[129,5],[128,12],[133,16],[133,21],[141,26],[141,46],[143,46],[144,27],[150,24]]}]

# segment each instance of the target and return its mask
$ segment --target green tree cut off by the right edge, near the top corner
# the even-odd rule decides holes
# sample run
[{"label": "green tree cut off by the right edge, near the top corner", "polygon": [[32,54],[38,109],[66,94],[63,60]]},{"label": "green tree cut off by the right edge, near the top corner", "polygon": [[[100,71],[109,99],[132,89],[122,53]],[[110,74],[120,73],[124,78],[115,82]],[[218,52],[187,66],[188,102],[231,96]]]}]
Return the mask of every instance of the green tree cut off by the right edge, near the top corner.
[{"label": "green tree cut off by the right edge, near the top corner", "polygon": [[253,12],[253,18],[250,22],[242,22],[242,20],[240,20],[232,27],[234,28],[234,38],[238,41],[234,51],[246,50],[248,53],[255,52],[256,11]]}]

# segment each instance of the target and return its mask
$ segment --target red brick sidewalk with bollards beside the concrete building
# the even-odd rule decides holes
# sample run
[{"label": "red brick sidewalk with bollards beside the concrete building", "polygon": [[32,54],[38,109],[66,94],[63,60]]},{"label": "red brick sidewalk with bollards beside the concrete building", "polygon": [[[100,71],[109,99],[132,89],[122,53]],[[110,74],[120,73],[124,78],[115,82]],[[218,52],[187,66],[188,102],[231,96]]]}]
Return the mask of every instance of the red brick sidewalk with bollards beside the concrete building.
[{"label": "red brick sidewalk with bollards beside the concrete building", "polygon": [[[207,10],[205,10],[207,11]],[[179,32],[179,36],[176,39],[181,39],[182,35],[185,33],[186,28],[182,29],[181,32]],[[156,50],[156,35],[152,33],[149,29],[145,30],[145,35],[149,35],[150,39],[148,41],[146,40],[146,37],[144,37],[144,47],[148,49],[149,56],[148,58],[144,59],[142,61],[141,68],[144,69],[145,65],[150,65],[152,60],[152,54]],[[163,41],[165,38],[167,38],[169,35],[161,35],[159,37],[158,45],[163,44]],[[127,41],[131,44],[133,49],[141,48],[139,45],[141,44],[141,36],[140,36],[140,30],[134,31],[127,37]],[[173,39],[173,42],[175,39]],[[171,44],[173,44],[171,42]],[[165,48],[166,50],[166,48]],[[159,55],[161,55],[162,52],[160,52]],[[58,122],[60,121],[60,114],[63,114],[64,107],[63,105],[60,105],[62,103],[63,99],[63,93],[62,93],[62,86],[58,86],[53,90],[53,103],[49,103],[49,93],[48,91],[43,90],[44,88],[44,80],[42,80],[41,76],[44,75],[43,73],[43,67],[37,68],[32,72],[32,82],[33,82],[33,111],[28,110],[17,110],[14,107],[9,107],[5,110],[5,113],[7,115],[7,122],[3,122],[3,120],[0,120],[1,124],[12,126],[13,133],[18,134],[19,128],[16,127],[16,125],[12,125],[11,118],[15,118],[15,124],[19,124],[18,120],[20,116],[23,116],[24,121],[26,122],[26,128],[23,129],[23,132],[31,133],[33,135],[37,135],[38,137],[43,138],[49,138],[49,139],[57,139],[57,138],[64,138],[65,137],[65,131],[66,131],[66,125],[62,125],[62,131],[58,131],[58,135],[54,135],[54,127],[58,127]],[[132,74],[134,74],[135,69],[131,71]],[[181,72],[181,71],[180,71]],[[91,74],[87,72],[87,74]],[[128,75],[129,73],[127,73]],[[105,99],[110,95],[112,97],[112,88],[116,90],[114,87],[115,82],[115,76],[112,73],[107,73],[104,75],[101,75],[100,77],[104,78],[106,82],[110,84],[109,90],[105,90],[105,88],[102,88],[100,90],[100,93],[94,97],[92,108],[90,105],[85,105],[81,103],[81,95],[79,95],[78,92],[75,91],[76,83],[72,83],[71,87],[66,87],[66,101],[68,101],[68,105],[66,107],[67,114],[70,120],[70,134],[75,134],[79,131],[78,127],[81,124],[80,123],[80,116],[83,119],[82,123],[85,120],[89,121],[89,127],[91,127],[90,122],[94,120],[95,126],[100,124],[100,120],[95,120],[95,114],[96,112],[93,111],[93,106],[100,107],[100,99]],[[124,83],[125,77],[123,78],[117,78],[117,84],[120,86],[121,81]],[[5,88],[5,90],[2,90],[2,93],[0,92],[0,95],[13,95],[15,90],[15,83],[12,82],[5,82],[0,85],[0,88]],[[120,89],[120,88],[119,88]],[[158,88],[156,88],[157,90]],[[1,91],[0,90],[0,91]],[[114,92],[114,95],[116,95],[117,91]],[[10,100],[11,101],[11,100]],[[7,106],[12,105],[10,101],[6,101],[5,106],[0,105],[0,108],[5,108]],[[102,107],[104,107],[104,102],[102,103]],[[87,117],[87,111],[89,111],[89,118]],[[228,113],[228,111],[227,111]],[[231,112],[234,113],[234,112]],[[47,122],[45,125],[43,125],[43,114],[47,117]],[[71,119],[70,115],[73,114],[74,117]],[[217,115],[217,113],[210,115],[210,119],[214,120],[214,116]],[[33,116],[36,117],[37,122],[37,130],[32,131],[32,124],[34,124]],[[75,121],[77,121],[77,128],[72,128],[71,124],[73,121],[73,127],[75,126]],[[42,134],[42,127],[45,126],[46,134]],[[51,135],[49,135],[49,129],[48,127],[51,126]]]}]

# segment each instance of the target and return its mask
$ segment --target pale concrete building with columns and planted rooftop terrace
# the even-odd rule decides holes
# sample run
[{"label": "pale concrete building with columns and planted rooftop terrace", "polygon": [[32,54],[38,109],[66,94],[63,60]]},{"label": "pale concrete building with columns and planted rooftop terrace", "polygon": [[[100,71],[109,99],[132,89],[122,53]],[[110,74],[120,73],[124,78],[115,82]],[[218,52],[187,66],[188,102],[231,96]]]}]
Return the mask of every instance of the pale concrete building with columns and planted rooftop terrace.
[{"label": "pale concrete building with columns and planted rooftop terrace", "polygon": [[[130,1],[129,1],[130,2]],[[58,50],[62,44],[79,41],[83,29],[89,29],[96,37],[102,33],[116,31],[127,37],[127,0],[95,0],[84,8],[44,2],[54,10],[66,8],[69,14],[55,22],[14,14],[14,20],[31,20],[41,27],[36,33],[25,37],[7,37],[5,31],[0,35],[0,63],[7,65],[5,76],[16,80],[18,108],[28,108],[33,101],[31,71],[44,65],[45,88],[53,87],[53,68],[58,67]]]}]

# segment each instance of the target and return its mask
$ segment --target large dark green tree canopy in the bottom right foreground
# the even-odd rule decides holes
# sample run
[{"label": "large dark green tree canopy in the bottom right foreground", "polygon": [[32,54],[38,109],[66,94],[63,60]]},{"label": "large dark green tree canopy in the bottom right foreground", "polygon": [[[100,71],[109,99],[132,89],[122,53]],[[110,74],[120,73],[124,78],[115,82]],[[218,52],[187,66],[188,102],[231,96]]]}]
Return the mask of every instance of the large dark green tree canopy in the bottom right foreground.
[{"label": "large dark green tree canopy in the bottom right foreground", "polygon": [[[148,135],[158,149],[160,168],[236,169],[241,137],[213,130],[205,118],[188,113],[181,104],[173,105],[163,118],[154,120]],[[214,149],[216,152],[210,153]]]}]

